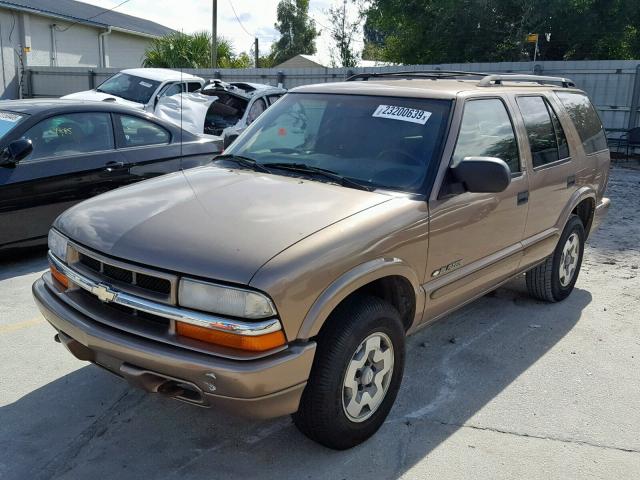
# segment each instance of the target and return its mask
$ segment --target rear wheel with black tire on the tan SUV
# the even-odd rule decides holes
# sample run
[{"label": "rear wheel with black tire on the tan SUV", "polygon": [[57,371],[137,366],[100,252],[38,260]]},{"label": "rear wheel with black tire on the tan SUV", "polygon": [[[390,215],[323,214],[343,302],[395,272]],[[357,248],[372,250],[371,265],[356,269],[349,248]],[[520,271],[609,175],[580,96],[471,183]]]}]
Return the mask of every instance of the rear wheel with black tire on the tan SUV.
[{"label": "rear wheel with black tire on the tan SUV", "polygon": [[[574,265],[571,260],[575,260],[573,269],[563,265],[563,261],[567,259],[563,253],[565,248],[570,246],[568,243],[570,239],[578,250],[575,252],[574,249],[567,260],[571,265]],[[578,280],[582,266],[584,242],[584,226],[577,215],[571,215],[553,253],[543,263],[527,272],[529,295],[546,302],[559,302],[567,298]],[[568,272],[571,272],[570,275]]]}]

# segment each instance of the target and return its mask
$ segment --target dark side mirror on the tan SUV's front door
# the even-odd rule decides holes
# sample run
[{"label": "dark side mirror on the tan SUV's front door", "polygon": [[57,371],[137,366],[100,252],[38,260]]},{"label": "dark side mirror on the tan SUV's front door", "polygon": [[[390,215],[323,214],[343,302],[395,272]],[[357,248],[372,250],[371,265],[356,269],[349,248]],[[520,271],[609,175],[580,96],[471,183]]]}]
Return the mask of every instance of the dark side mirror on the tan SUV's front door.
[{"label": "dark side mirror on the tan SUV's front door", "polygon": [[504,192],[511,183],[511,170],[499,158],[465,157],[451,171],[469,192]]}]

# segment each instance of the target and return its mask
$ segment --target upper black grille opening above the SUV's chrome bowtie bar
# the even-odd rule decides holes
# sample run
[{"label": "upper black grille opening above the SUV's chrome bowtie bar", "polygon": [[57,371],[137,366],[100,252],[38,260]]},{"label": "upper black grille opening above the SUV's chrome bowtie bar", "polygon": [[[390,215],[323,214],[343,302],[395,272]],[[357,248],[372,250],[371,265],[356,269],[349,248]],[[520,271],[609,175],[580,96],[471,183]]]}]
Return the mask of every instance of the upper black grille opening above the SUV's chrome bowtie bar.
[{"label": "upper black grille opening above the SUV's chrome bowtie bar", "polygon": [[75,245],[72,246],[72,251],[73,249],[77,255],[76,261],[71,263],[90,273],[94,280],[113,284],[131,294],[175,304],[177,277],[111,260]]}]

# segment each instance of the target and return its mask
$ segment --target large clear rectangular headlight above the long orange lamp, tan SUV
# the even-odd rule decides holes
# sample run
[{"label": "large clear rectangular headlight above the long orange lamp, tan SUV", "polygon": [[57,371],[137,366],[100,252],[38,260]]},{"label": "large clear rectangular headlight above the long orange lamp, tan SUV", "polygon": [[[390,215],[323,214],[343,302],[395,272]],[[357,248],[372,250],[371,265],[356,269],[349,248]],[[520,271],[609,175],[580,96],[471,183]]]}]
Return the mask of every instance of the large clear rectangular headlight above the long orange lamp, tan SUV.
[{"label": "large clear rectangular headlight above the long orange lamp, tan SUV", "polygon": [[180,280],[178,302],[183,307],[230,317],[257,319],[276,314],[271,300],[261,293],[188,278]]}]

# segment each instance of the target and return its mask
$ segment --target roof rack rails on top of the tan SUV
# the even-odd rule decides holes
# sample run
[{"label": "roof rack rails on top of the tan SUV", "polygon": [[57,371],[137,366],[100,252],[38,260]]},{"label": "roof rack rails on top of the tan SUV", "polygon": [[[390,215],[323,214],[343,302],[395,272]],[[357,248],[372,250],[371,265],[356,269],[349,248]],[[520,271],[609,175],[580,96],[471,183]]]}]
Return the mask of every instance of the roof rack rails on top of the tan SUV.
[{"label": "roof rack rails on top of the tan SUV", "polygon": [[533,82],[540,85],[549,83],[559,83],[564,88],[575,87],[575,83],[570,78],[564,77],[545,77],[542,75],[523,75],[523,74],[501,74],[501,73],[482,73],[482,72],[464,72],[459,70],[414,70],[399,72],[364,72],[357,73],[347,78],[347,82],[366,81],[370,78],[480,78],[478,86],[491,87],[502,85],[502,82]]}]

